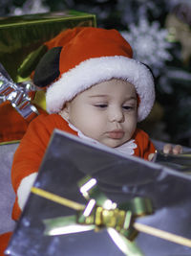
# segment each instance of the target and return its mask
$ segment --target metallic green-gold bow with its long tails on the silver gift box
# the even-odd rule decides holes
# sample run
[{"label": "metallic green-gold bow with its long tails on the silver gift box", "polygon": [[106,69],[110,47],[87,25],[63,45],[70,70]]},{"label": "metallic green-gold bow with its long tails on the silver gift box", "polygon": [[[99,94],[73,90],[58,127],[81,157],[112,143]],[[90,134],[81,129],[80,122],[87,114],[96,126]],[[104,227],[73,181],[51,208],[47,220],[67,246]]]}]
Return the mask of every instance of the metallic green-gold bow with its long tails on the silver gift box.
[{"label": "metallic green-gold bow with its long tails on the silver gift box", "polygon": [[[102,228],[107,228],[109,235],[125,255],[142,256],[142,252],[134,242],[138,231],[133,227],[133,222],[138,217],[153,213],[151,200],[134,198],[117,205],[99,190],[96,178],[86,176],[80,180],[78,185],[80,193],[87,199],[87,204],[84,207],[79,207],[81,209],[76,210],[74,216],[44,220],[45,235],[64,235],[88,230],[97,232]],[[59,197],[56,196],[56,201],[59,200]],[[62,204],[73,208],[73,201],[70,201],[69,204],[65,204],[65,202]]]}]

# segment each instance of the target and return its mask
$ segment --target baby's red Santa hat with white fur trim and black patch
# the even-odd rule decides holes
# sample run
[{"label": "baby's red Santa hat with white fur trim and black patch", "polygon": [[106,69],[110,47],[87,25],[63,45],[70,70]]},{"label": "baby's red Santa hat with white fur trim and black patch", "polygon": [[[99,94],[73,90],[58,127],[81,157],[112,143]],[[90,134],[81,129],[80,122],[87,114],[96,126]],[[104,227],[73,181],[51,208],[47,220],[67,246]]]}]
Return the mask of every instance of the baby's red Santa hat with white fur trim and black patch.
[{"label": "baby's red Santa hat with white fur trim and black patch", "polygon": [[33,81],[37,86],[47,86],[49,113],[59,112],[92,85],[114,78],[134,84],[139,98],[138,122],[150,113],[155,101],[153,76],[133,58],[131,46],[116,30],[77,27],[45,45],[49,51],[39,61]]}]

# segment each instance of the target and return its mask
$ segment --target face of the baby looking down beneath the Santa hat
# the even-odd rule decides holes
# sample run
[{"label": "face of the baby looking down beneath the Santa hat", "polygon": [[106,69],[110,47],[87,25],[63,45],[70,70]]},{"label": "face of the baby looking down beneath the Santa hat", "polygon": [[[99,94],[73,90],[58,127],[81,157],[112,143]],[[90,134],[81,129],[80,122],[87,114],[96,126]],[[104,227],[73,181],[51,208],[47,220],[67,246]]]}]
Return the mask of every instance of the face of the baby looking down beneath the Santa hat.
[{"label": "face of the baby looking down beneath the Santa hat", "polygon": [[60,114],[96,141],[115,148],[137,128],[137,93],[128,81],[103,81],[78,94]]}]

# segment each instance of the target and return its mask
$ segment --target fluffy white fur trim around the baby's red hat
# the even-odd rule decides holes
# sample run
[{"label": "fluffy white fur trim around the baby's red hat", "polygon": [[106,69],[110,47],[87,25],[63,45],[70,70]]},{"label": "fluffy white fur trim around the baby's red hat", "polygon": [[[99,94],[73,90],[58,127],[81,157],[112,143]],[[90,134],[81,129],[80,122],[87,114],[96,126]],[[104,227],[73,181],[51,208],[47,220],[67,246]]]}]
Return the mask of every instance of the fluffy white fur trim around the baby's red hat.
[{"label": "fluffy white fur trim around the baby's red hat", "polygon": [[150,113],[155,101],[154,80],[145,65],[123,56],[89,58],[62,74],[47,90],[47,110],[57,113],[78,93],[98,82],[115,78],[135,85],[140,99],[138,122],[142,121]]}]

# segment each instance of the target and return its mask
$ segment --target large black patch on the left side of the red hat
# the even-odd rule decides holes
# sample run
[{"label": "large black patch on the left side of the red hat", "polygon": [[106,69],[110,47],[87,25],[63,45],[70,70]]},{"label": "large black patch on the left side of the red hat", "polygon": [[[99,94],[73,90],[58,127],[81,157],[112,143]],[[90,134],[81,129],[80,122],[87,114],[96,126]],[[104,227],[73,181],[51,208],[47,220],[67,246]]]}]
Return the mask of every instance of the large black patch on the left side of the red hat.
[{"label": "large black patch on the left side of the red hat", "polygon": [[38,62],[33,82],[36,86],[45,87],[59,77],[59,58],[62,47],[53,47]]}]

